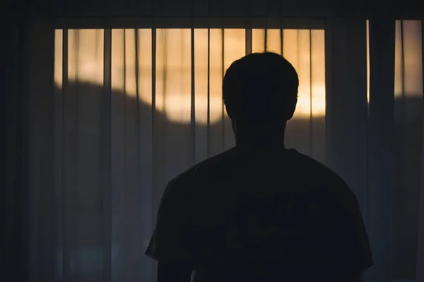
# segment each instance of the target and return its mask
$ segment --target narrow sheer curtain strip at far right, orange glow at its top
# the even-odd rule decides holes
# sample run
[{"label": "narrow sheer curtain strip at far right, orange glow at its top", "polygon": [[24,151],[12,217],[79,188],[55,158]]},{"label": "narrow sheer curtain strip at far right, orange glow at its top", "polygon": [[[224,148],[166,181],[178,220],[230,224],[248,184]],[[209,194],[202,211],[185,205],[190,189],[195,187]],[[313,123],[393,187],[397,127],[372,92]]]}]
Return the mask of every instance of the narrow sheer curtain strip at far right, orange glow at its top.
[{"label": "narrow sheer curtain strip at far right, orange glow at its top", "polygon": [[394,279],[415,279],[423,128],[420,20],[396,20],[394,132],[396,173],[392,210]]}]

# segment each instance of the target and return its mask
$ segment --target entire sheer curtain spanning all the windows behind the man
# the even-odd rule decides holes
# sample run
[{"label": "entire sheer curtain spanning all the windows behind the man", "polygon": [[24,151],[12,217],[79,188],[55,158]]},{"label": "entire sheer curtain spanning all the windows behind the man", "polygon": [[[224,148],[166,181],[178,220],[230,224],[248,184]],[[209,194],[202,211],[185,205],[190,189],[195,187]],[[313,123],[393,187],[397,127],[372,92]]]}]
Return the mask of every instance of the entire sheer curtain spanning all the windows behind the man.
[{"label": "entire sheer curtain spanning all the windows behind the man", "polygon": [[[421,254],[416,250],[423,244],[416,239],[422,24],[396,21],[389,42],[394,54],[384,53],[394,60],[394,69],[378,68],[380,62],[370,57],[368,73],[383,70],[394,76],[389,80],[394,85],[386,87],[371,75],[366,116],[365,23],[360,23],[334,20],[325,34],[285,29],[36,33],[30,39],[35,43],[22,145],[28,279],[154,281],[155,263],[143,252],[163,188],[179,172],[234,145],[220,97],[223,73],[235,59],[265,49],[282,52],[300,75],[286,146],[329,164],[358,196],[376,262],[371,271],[377,274],[367,281],[387,282],[379,279],[387,277],[381,272],[416,278]],[[378,36],[371,32],[370,42],[373,37]],[[389,99],[375,95],[382,86],[391,91]],[[391,104],[375,104],[376,97],[394,103],[393,124],[379,115]],[[393,129],[395,146],[376,153],[379,145],[371,146],[370,139],[385,134],[380,124]],[[382,136],[379,140],[389,135]],[[367,170],[386,159],[395,167],[393,197],[386,197],[391,188],[382,185],[388,170]],[[380,224],[381,215],[387,226]],[[390,266],[382,263],[387,241]]]}]

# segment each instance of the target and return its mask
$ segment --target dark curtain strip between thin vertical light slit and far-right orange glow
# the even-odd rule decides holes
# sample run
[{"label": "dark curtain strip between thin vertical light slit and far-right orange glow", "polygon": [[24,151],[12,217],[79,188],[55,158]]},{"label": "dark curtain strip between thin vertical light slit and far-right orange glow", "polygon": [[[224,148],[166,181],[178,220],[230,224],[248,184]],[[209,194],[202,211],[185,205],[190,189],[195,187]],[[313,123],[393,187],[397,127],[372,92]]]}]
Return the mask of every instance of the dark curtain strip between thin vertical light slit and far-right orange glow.
[{"label": "dark curtain strip between thin vertical light slit and far-right orange glow", "polygon": [[394,203],[394,21],[370,20],[370,101],[368,106],[367,228],[375,266],[369,281],[393,279]]}]

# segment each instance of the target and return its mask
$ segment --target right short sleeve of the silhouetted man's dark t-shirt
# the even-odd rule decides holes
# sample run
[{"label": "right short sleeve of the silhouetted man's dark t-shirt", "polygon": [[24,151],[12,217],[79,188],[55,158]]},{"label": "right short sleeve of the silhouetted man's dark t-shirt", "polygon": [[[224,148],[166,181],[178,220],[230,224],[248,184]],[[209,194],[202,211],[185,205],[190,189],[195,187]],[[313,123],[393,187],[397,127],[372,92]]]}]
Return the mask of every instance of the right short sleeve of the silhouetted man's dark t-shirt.
[{"label": "right short sleeve of the silhouetted man's dark t-shirt", "polygon": [[336,205],[334,226],[335,264],[343,271],[364,271],[372,266],[372,252],[355,194],[348,191]]}]

